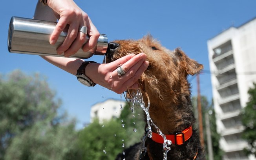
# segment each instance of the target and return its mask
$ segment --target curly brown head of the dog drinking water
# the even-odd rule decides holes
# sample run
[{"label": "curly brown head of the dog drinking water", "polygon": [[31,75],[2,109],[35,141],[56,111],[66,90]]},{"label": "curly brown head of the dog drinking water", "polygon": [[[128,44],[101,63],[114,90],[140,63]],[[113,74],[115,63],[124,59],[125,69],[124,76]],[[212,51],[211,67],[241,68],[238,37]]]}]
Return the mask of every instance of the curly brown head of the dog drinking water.
[{"label": "curly brown head of the dog drinking water", "polygon": [[130,53],[142,52],[147,55],[150,64],[138,83],[141,90],[147,92],[149,96],[165,99],[166,96],[170,96],[166,95],[167,93],[184,92],[181,89],[186,89],[186,87],[181,85],[188,84],[187,75],[194,75],[203,69],[203,65],[188,58],[180,49],[170,51],[150,35],[144,36],[140,40],[111,42],[106,53],[106,63],[113,62]]}]

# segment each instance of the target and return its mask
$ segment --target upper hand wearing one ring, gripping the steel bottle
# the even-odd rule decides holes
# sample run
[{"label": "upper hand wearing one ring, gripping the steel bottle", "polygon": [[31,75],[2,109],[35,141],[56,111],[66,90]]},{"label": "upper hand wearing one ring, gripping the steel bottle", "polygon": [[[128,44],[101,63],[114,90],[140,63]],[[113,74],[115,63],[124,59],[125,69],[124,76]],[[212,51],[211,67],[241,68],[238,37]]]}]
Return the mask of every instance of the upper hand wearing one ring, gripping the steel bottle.
[{"label": "upper hand wearing one ring, gripping the steel bottle", "polygon": [[59,19],[51,37],[50,44],[54,45],[60,35],[69,25],[68,35],[62,45],[57,48],[57,53],[64,53],[66,57],[71,56],[82,47],[86,40],[86,35],[79,31],[82,26],[87,27],[89,41],[82,47],[86,52],[92,49],[99,38],[99,31],[91,22],[90,17],[73,2],[73,0],[47,0],[47,4],[55,12],[55,16]]}]

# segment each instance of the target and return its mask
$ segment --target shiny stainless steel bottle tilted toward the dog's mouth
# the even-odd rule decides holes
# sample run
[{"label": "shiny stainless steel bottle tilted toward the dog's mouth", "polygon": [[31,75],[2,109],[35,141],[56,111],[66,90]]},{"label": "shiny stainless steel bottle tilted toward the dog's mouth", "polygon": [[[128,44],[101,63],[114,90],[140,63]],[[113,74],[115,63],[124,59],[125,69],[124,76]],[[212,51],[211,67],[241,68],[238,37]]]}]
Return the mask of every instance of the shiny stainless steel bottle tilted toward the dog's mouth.
[{"label": "shiny stainless steel bottle tilted toward the dog's mouth", "polygon": [[[49,38],[55,29],[55,22],[20,18],[13,16],[9,25],[8,50],[11,53],[24,53],[31,55],[62,56],[56,52],[57,47],[64,42],[67,33],[64,31],[55,45],[49,43]],[[88,41],[89,37],[87,36]],[[84,43],[86,43],[84,42]],[[94,49],[83,52],[79,49],[71,58],[90,58],[93,55],[104,55],[108,48],[108,38],[101,34]]]}]

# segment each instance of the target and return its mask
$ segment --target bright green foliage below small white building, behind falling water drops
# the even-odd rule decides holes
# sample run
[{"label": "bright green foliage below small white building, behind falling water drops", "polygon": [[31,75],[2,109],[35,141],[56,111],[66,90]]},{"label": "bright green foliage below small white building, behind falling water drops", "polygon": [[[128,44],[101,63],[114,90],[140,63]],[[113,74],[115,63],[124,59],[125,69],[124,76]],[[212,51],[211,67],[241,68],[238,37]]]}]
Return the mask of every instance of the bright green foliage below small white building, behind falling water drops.
[{"label": "bright green foliage below small white building, behind falling water drops", "polygon": [[141,140],[144,133],[143,118],[141,108],[135,107],[132,113],[127,103],[119,118],[104,121],[102,124],[95,119],[79,133],[79,147],[83,151],[82,159],[115,159],[124,148]]}]

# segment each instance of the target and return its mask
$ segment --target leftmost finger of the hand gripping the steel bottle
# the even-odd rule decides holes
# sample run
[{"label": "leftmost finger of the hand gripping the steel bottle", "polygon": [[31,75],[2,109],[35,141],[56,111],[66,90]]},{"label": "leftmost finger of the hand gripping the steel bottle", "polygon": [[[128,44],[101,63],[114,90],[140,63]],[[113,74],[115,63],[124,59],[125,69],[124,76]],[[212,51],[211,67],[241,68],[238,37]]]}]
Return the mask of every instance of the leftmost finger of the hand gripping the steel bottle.
[{"label": "leftmost finger of the hand gripping the steel bottle", "polygon": [[64,17],[60,18],[55,29],[53,30],[53,33],[50,36],[49,42],[51,45],[54,45],[57,42],[60,33],[65,29],[66,25],[67,25],[66,18]]}]

